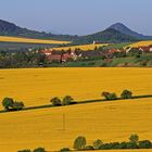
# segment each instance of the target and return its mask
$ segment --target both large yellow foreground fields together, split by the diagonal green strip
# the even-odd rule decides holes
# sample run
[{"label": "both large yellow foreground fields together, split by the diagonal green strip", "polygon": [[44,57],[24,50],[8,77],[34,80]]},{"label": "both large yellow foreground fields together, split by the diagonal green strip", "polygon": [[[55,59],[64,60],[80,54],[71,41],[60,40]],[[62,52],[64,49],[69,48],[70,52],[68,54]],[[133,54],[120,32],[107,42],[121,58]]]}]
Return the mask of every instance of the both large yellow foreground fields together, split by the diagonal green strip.
[{"label": "both large yellow foreground fields together, split by the diagonal green strip", "polygon": [[[12,97],[33,106],[49,104],[55,96],[71,94],[81,101],[100,99],[102,91],[119,94],[124,89],[135,94],[151,94],[151,68],[1,69],[0,100]],[[86,136],[88,144],[96,139],[127,141],[131,134],[138,134],[141,140],[152,139],[151,106],[152,99],[136,99],[3,113],[0,114],[0,150],[72,148],[79,135]]]}]

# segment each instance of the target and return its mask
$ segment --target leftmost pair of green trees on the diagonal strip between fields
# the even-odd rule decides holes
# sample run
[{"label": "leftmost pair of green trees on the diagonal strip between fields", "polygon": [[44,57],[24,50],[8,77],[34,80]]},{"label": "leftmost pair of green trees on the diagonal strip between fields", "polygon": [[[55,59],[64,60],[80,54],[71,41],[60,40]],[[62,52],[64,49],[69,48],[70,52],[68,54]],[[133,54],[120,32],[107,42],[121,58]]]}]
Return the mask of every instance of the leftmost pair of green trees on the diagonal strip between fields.
[{"label": "leftmost pair of green trees on the diagonal strip between fields", "polygon": [[2,100],[2,106],[5,111],[20,111],[24,109],[24,103],[22,101],[14,101],[12,98],[4,98]]}]

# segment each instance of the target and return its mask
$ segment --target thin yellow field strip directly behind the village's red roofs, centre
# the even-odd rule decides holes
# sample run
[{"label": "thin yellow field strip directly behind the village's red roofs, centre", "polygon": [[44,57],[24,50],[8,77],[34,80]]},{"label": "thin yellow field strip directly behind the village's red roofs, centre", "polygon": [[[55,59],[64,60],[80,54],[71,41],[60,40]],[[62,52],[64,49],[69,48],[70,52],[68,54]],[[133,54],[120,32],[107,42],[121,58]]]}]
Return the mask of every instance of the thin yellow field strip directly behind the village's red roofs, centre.
[{"label": "thin yellow field strip directly behind the village's red roofs, centre", "polygon": [[94,50],[96,48],[100,48],[100,47],[103,47],[103,46],[107,46],[109,43],[97,43],[97,45],[83,45],[83,46],[72,46],[72,47],[61,47],[61,48],[52,48],[53,50],[56,50],[56,51],[61,51],[61,50],[64,50],[64,51],[67,51],[67,50],[75,50],[75,49],[80,49],[83,51],[87,51],[87,50]]}]

